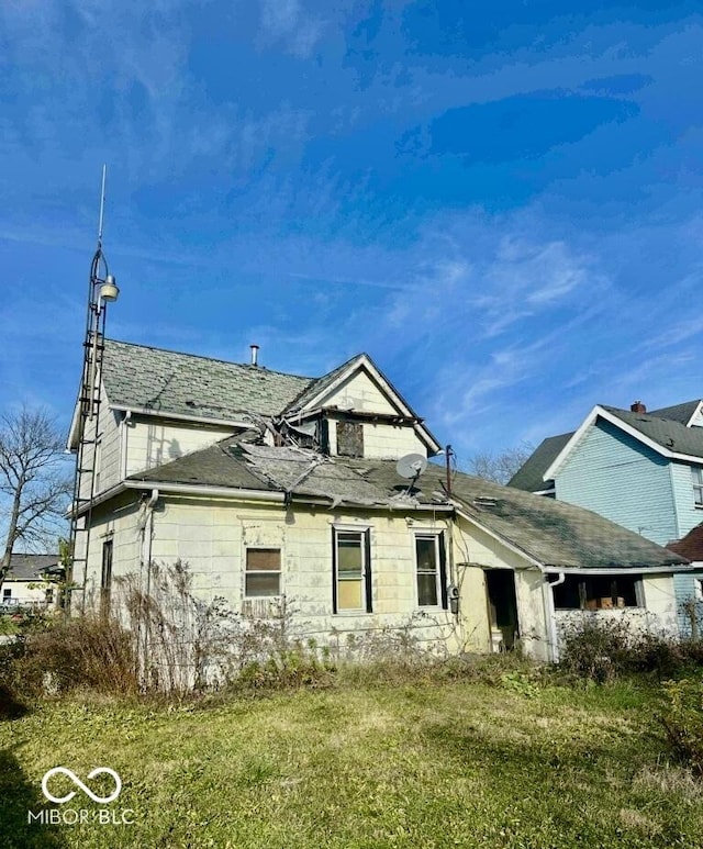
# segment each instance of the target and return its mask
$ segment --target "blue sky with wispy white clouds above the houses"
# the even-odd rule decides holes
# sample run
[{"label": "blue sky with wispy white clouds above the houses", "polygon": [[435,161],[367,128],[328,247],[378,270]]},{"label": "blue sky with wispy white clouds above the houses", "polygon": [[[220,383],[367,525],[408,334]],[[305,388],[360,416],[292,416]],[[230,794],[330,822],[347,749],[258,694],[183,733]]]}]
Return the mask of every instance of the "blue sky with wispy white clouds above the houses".
[{"label": "blue sky with wispy white clouds above the houses", "polygon": [[5,0],[0,409],[108,334],[368,351],[459,463],[703,394],[698,3]]}]

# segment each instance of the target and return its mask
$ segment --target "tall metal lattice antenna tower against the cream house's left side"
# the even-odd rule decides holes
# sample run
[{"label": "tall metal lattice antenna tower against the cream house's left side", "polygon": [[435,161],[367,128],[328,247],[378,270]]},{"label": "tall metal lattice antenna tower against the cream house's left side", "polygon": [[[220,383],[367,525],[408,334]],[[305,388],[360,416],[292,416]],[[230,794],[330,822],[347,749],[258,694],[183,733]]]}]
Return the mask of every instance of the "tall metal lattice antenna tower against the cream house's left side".
[{"label": "tall metal lattice antenna tower against the cream house's left side", "polygon": [[[76,471],[70,514],[70,566],[66,576],[66,613],[70,614],[72,594],[80,591],[80,613],[86,610],[86,585],[88,583],[88,557],[90,527],[99,473],[100,431],[100,384],[102,357],[104,353],[107,304],[116,301],[120,290],[114,277],[108,270],[102,253],[102,226],[105,205],[105,174],[102,166],[100,190],[100,213],[98,220],[98,247],[90,264],[88,279],[88,312],[83,337],[83,368],[77,403]],[[77,574],[78,572],[78,574]],[[77,579],[80,583],[77,583]]]}]

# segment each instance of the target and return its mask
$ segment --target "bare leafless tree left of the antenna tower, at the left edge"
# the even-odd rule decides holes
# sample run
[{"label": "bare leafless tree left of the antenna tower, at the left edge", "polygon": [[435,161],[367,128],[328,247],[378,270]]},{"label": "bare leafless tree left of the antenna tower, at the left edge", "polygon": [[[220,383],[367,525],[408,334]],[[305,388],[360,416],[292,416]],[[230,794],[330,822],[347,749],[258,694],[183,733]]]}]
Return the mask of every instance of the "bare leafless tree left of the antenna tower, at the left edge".
[{"label": "bare leafless tree left of the antenna tower, at the left edge", "polygon": [[46,547],[56,536],[71,491],[64,439],[45,410],[0,416],[0,521],[7,528],[0,587],[16,543]]}]

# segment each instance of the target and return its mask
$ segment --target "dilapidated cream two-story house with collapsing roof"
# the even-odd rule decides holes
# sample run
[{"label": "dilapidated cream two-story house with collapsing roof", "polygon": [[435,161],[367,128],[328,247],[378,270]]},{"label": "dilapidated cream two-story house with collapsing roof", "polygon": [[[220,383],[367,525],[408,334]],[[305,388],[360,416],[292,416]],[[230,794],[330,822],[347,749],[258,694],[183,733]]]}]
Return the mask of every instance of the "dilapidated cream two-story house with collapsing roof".
[{"label": "dilapidated cream two-story house with collapsing roof", "polygon": [[453,471],[365,354],[303,378],[105,339],[86,373],[99,403],[81,389],[69,440],[74,610],[109,605],[118,576],[146,582],[149,563],[180,559],[202,599],[266,617],[284,596],[319,643],[412,626],[446,651],[521,640],[553,659],[555,594],[574,581],[645,627],[676,627],[684,558]]}]

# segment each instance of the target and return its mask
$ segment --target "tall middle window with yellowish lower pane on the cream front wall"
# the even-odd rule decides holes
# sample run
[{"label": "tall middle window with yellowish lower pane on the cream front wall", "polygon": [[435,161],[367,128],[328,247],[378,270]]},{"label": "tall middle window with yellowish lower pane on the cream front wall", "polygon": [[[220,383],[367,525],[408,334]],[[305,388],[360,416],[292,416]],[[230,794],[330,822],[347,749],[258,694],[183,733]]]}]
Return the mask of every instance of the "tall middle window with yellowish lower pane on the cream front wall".
[{"label": "tall middle window with yellowish lower pane on the cream front wall", "polygon": [[368,530],[333,529],[333,610],[371,613],[371,556]]}]

